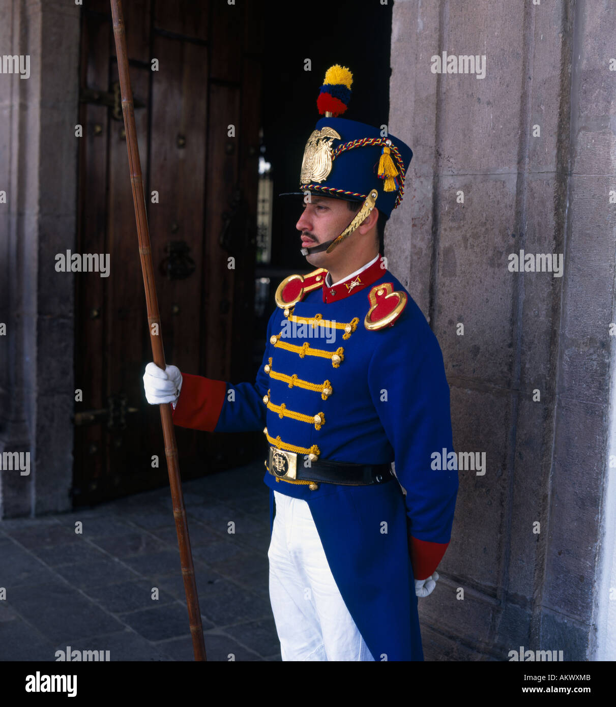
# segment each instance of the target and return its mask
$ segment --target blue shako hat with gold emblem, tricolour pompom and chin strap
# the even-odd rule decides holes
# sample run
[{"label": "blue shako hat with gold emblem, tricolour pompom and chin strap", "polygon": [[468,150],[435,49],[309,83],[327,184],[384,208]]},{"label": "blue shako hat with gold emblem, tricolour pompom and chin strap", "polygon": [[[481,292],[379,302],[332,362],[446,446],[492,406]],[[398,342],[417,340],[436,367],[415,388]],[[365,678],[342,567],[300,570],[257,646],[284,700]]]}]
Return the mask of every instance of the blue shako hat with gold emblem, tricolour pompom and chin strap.
[{"label": "blue shako hat with gold emblem, tricolour pompom and chin strap", "polygon": [[[341,118],[351,98],[353,75],[346,66],[330,66],[317,100],[321,118],[308,138],[300,173],[301,192],[361,201],[349,226],[327,243],[302,248],[302,255],[331,252],[373,209],[389,218],[400,204],[413,152],[396,136],[371,125]],[[284,196],[284,194],[281,194]]]}]

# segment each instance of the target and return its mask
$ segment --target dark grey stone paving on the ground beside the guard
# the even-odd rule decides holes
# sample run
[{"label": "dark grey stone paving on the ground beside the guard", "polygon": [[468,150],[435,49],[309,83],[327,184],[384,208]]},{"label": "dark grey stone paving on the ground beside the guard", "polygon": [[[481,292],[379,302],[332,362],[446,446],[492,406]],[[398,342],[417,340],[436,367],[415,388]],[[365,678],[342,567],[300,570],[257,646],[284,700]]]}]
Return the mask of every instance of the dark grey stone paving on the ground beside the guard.
[{"label": "dark grey stone paving on the ground beside the guard", "polygon": [[[262,478],[255,462],[182,484],[208,660],[281,660]],[[53,661],[67,646],[109,650],[110,660],[193,660],[168,487],[0,520],[2,587],[0,660]]]}]

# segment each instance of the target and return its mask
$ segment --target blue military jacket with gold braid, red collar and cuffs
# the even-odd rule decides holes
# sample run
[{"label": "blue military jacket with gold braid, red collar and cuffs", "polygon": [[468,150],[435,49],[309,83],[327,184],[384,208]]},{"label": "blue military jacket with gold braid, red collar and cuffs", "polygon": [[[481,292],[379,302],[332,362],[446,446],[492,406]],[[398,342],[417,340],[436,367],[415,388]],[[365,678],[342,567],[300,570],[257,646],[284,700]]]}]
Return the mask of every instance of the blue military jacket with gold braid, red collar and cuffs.
[{"label": "blue military jacket with gold braid, red collar and cuffs", "polygon": [[274,490],[303,498],[375,660],[423,660],[414,577],[440,561],[458,491],[458,472],[433,463],[443,449],[453,452],[443,356],[422,311],[380,259],[334,288],[325,274],[291,276],[278,288],[254,384],[182,374],[174,422],[264,430],[268,450],[295,452],[306,469],[315,458],[395,461],[397,481],[371,486],[310,490],[267,471],[270,527]]}]

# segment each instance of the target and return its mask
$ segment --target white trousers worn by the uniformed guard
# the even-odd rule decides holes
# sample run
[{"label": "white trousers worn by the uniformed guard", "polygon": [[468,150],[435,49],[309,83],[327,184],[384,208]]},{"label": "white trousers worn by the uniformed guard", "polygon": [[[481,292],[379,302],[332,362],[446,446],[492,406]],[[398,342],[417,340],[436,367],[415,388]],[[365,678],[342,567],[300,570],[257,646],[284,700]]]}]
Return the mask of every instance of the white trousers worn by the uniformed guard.
[{"label": "white trousers worn by the uniformed guard", "polygon": [[282,660],[374,660],[336,586],[308,503],[278,491],[274,499],[269,598]]}]

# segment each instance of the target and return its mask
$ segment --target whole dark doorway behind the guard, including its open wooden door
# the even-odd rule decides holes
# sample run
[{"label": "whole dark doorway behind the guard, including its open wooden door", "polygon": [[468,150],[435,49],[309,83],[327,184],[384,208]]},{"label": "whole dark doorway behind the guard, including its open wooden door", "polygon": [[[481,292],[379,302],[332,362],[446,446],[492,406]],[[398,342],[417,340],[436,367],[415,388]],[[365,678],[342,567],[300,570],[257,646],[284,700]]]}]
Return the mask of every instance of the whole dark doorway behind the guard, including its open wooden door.
[{"label": "whole dark doorway behind the guard, including its open wooden door", "polygon": [[[310,269],[294,228],[301,203],[277,194],[298,186],[332,64],[354,74],[347,117],[387,122],[391,10],[378,0],[124,3],[168,363],[254,380],[277,284]],[[81,17],[75,251],[109,253],[111,274],[76,277],[75,506],[168,483],[160,416],[141,384],[151,349],[107,0]],[[185,479],[265,449],[262,433],[176,435]]]}]

